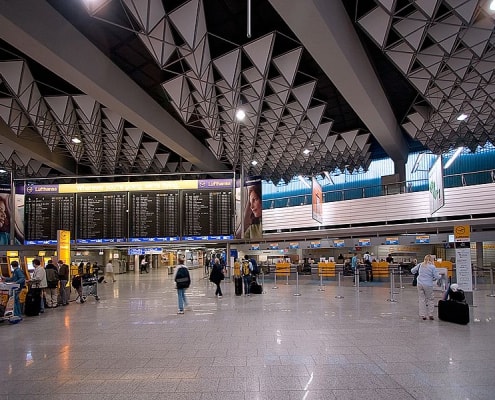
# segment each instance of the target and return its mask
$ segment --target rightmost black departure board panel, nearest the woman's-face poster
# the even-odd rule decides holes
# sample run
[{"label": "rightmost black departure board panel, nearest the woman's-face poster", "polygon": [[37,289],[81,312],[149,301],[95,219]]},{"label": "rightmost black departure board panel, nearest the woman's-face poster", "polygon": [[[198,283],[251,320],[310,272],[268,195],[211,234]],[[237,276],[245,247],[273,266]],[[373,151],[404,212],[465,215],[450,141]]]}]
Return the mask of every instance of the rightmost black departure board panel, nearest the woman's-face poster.
[{"label": "rightmost black departure board panel, nearest the woman's-face poster", "polygon": [[232,190],[185,190],[182,193],[184,239],[232,237]]}]

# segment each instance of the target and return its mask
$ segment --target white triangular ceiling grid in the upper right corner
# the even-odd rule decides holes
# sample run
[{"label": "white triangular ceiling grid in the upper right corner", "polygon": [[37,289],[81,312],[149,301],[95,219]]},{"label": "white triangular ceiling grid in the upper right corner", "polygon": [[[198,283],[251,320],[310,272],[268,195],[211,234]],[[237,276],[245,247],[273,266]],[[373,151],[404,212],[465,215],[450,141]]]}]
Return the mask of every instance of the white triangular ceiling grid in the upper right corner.
[{"label": "white triangular ceiling grid in the upper right corner", "polygon": [[[358,24],[422,95],[403,128],[436,154],[495,144],[495,35],[486,2],[422,0],[407,10],[375,2]],[[400,40],[388,44],[392,30]],[[458,121],[461,113],[468,119]]]}]

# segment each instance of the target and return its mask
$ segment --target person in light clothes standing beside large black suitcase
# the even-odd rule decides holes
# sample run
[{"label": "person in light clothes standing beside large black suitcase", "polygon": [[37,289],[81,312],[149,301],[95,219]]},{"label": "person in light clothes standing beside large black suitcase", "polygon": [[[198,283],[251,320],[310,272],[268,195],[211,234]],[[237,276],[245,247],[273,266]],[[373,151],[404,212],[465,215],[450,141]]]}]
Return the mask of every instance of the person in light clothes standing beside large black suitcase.
[{"label": "person in light clothes standing beside large black suitcase", "polygon": [[433,293],[433,281],[440,279],[440,274],[433,265],[433,257],[427,254],[424,261],[411,269],[411,273],[418,275],[418,303],[419,303],[419,316],[425,320],[428,316],[431,320],[434,320],[433,310],[434,293]]}]

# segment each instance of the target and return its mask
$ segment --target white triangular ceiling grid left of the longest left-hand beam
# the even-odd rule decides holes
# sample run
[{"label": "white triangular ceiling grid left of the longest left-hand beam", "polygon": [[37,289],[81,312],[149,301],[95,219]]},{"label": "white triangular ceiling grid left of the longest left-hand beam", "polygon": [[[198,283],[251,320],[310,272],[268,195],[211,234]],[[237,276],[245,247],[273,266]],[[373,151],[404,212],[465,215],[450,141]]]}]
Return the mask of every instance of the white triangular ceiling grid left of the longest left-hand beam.
[{"label": "white triangular ceiling grid left of the longest left-hand beam", "polygon": [[[78,163],[90,166],[95,174],[113,174],[118,163],[124,163],[121,167],[128,171],[146,172],[152,167],[158,142],[142,143],[141,131],[139,140],[135,137],[130,140],[126,134],[133,128],[125,130],[125,121],[120,115],[102,107],[91,97],[43,97],[38,82],[23,60],[0,62],[0,83],[7,88],[7,92],[0,93],[0,118],[16,136],[27,137],[30,132],[25,129],[31,128],[43,138],[49,151],[56,148],[68,151]],[[73,138],[83,142],[73,143]],[[40,168],[40,163],[31,157],[19,152],[9,153],[10,150],[2,144],[0,159],[15,161],[16,166],[26,167],[37,176],[48,175],[49,168]],[[119,160],[121,152],[127,163]],[[168,156],[156,160],[157,171],[164,169],[163,161],[166,162]],[[22,171],[18,175],[21,176]]]}]

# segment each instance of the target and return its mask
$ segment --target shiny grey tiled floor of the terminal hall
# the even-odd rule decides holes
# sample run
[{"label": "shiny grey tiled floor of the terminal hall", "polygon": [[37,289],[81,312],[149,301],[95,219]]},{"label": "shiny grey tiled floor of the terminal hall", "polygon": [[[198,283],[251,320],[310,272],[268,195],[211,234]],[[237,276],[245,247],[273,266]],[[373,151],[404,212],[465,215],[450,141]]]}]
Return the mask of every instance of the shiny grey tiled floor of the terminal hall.
[{"label": "shiny grey tiled floor of the terminal hall", "polygon": [[184,315],[171,276],[153,270],[100,285],[98,303],[0,324],[0,400],[495,399],[488,287],[461,326],[420,320],[410,285],[390,302],[387,284],[357,292],[348,279],[324,291],[315,277],[299,290],[267,279],[251,297],[224,282],[216,299],[192,276]]}]

